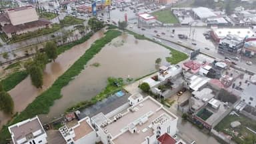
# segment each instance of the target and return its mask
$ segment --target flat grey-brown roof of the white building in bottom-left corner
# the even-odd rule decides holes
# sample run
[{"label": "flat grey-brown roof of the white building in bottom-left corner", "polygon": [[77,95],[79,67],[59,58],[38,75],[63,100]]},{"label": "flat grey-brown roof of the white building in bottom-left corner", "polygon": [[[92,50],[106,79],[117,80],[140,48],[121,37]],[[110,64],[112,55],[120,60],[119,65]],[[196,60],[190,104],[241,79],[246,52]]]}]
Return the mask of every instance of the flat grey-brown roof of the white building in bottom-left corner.
[{"label": "flat grey-brown roof of the white building in bottom-left corner", "polygon": [[27,136],[34,137],[35,135],[45,133],[37,116],[32,119],[16,123],[15,125],[11,125],[9,127],[9,132],[11,133],[14,141],[19,141],[21,139],[23,139],[22,141],[27,141]]}]

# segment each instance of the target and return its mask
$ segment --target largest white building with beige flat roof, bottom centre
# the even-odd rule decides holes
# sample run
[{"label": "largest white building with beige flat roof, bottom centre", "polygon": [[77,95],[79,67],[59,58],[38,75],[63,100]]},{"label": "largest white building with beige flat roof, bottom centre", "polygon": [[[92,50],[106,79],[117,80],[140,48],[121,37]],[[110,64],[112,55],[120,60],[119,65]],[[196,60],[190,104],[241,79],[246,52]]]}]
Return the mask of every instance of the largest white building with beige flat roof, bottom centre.
[{"label": "largest white building with beige flat roof, bottom centre", "polygon": [[164,133],[175,135],[178,118],[148,96],[128,109],[116,109],[91,118],[104,144],[154,144]]}]

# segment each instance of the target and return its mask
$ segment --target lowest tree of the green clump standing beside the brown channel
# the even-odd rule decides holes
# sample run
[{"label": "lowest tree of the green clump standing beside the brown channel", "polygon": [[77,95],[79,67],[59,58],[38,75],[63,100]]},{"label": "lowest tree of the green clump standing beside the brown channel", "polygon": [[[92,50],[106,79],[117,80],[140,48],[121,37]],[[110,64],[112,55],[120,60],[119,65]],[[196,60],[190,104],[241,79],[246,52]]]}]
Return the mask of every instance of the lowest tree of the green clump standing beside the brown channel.
[{"label": "lowest tree of the green clump standing beside the brown channel", "polygon": [[41,88],[43,86],[43,71],[41,67],[35,64],[31,65],[29,67],[29,74],[32,84],[37,88]]}]

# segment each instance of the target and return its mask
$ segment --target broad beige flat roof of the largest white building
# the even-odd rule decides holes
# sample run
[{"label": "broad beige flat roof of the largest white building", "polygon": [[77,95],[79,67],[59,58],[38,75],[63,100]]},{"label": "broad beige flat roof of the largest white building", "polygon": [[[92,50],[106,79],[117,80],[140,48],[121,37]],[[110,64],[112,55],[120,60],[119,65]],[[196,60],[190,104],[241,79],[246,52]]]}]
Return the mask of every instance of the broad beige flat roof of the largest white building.
[{"label": "broad beige flat roof of the largest white building", "polygon": [[[157,117],[166,117],[166,119],[171,119],[171,121],[177,119],[173,113],[167,111],[165,108],[163,108],[161,103],[158,103],[150,96],[145,97],[143,101],[134,105],[133,109],[133,112],[131,112],[129,109],[121,112],[121,115],[123,115],[121,118],[103,128],[111,134],[114,143],[142,143],[145,141],[145,137],[153,135],[153,129],[151,129],[150,125],[152,125],[152,122]],[[133,124],[137,123],[140,119],[142,119],[142,117],[147,117],[145,123],[142,125]],[[109,119],[113,121],[115,118],[110,117]],[[132,134],[131,132],[127,131],[127,127],[130,125],[137,127],[137,131],[139,130],[140,132]],[[124,139],[129,139],[129,141],[124,141]]]}]

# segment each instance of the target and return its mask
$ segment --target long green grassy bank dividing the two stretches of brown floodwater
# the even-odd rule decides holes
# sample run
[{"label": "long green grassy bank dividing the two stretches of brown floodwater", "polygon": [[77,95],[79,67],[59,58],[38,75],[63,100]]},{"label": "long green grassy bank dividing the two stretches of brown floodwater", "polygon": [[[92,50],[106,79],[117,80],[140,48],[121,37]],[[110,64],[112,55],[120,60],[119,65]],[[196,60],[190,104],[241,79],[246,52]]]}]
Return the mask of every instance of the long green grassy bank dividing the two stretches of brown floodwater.
[{"label": "long green grassy bank dividing the two stretches of brown floodwater", "polygon": [[[73,77],[79,75],[79,73],[84,69],[84,65],[86,65],[94,55],[99,53],[107,43],[111,42],[112,39],[119,35],[121,35],[120,31],[107,31],[107,33],[105,33],[105,37],[95,41],[95,43],[93,43],[91,47],[87,49],[87,51],[85,51],[85,53],[75,61],[75,63],[67,69],[67,71],[65,71],[65,73],[63,73],[63,75],[61,75],[49,89],[39,95],[26,107],[24,111],[17,115],[11,123],[8,123],[8,125],[35,117],[35,115],[49,113],[49,108],[53,105],[54,101],[61,98],[61,89],[68,85],[69,81],[71,81]],[[7,129],[8,125],[5,125],[3,129],[1,129],[0,143],[6,143],[5,139],[10,138],[10,134]]]}]

